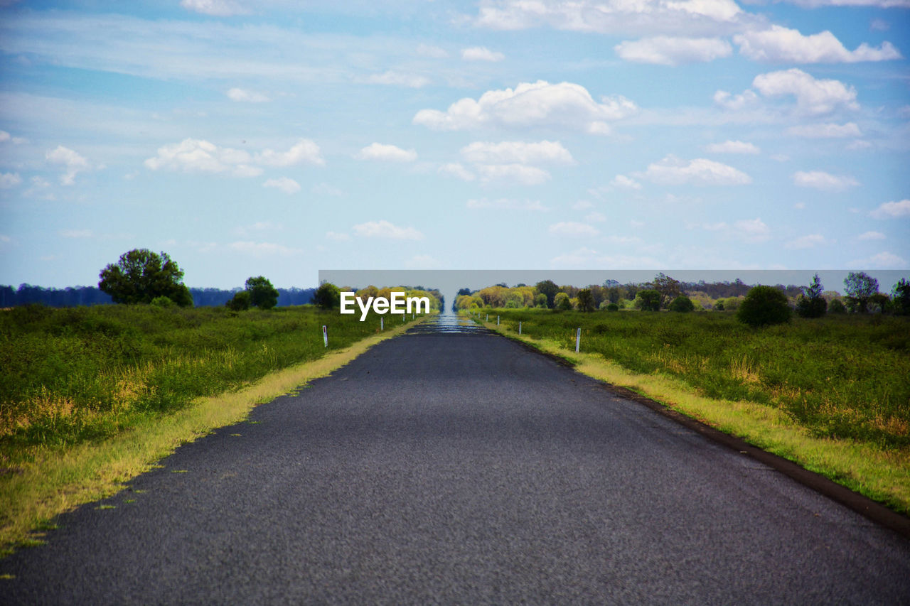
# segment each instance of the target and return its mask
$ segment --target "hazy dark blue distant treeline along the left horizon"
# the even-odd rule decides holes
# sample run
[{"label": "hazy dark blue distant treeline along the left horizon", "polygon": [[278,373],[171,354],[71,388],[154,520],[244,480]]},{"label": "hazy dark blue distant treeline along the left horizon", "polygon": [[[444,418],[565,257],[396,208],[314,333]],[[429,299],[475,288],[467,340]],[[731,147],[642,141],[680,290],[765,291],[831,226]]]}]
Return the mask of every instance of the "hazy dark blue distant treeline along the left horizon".
[{"label": "hazy dark blue distant treeline along the left horizon", "polygon": [[[242,288],[190,288],[193,305],[197,307],[218,307],[234,297]],[[307,305],[313,300],[316,288],[278,288],[278,307]],[[106,305],[112,303],[109,295],[97,287],[44,288],[21,284],[19,288],[0,286],[0,308],[41,303],[51,308],[74,308],[79,305]]]}]

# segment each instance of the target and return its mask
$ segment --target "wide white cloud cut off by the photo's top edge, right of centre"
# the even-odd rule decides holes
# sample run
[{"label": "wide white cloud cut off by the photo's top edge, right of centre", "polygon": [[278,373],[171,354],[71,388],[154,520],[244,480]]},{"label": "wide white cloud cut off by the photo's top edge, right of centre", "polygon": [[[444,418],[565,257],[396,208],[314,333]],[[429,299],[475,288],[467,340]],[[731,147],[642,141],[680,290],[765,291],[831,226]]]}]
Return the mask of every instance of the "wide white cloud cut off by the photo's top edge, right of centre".
[{"label": "wide white cloud cut off by the photo's top edge, right of centre", "polygon": [[617,35],[718,32],[742,20],[733,0],[486,0],[471,19],[491,29],[550,26]]}]

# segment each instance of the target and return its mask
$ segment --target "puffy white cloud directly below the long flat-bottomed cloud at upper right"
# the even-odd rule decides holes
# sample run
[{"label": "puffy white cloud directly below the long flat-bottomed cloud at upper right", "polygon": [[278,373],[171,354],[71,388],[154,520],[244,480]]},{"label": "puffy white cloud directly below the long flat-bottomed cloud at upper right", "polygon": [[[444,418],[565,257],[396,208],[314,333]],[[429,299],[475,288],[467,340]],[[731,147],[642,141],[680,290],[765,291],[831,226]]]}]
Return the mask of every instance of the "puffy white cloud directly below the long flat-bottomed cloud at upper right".
[{"label": "puffy white cloud directly below the long flat-bottomed cloud at upper right", "polygon": [[853,86],[840,80],[816,80],[795,67],[755,76],[752,86],[763,96],[795,96],[796,105],[810,114],[825,114],[838,107],[859,109]]}]

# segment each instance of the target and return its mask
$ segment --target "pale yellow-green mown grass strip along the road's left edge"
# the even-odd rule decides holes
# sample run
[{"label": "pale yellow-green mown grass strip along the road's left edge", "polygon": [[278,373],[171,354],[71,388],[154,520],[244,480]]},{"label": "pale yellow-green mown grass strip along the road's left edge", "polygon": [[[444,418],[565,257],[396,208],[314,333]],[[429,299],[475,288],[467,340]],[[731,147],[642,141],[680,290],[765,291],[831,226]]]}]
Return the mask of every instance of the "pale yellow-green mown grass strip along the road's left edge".
[{"label": "pale yellow-green mown grass strip along the road's left edge", "polygon": [[144,419],[101,441],[42,449],[0,478],[0,557],[17,547],[41,544],[42,530],[56,515],[116,494],[124,482],[152,469],[181,444],[246,419],[258,404],[329,375],[412,326],[402,324],[329,350],[322,358],[272,372],[243,389],[196,399],[173,414]]}]

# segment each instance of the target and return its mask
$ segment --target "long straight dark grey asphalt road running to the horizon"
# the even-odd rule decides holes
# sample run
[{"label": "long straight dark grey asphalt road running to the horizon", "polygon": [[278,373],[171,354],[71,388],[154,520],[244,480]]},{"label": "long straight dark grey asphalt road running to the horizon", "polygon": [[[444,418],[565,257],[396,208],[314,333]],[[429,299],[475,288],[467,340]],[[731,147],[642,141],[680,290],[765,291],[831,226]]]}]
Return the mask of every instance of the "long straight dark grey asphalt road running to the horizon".
[{"label": "long straight dark grey asphalt road running to the horizon", "polygon": [[907,540],[480,329],[250,420],[61,516],[0,602],[910,603]]}]

